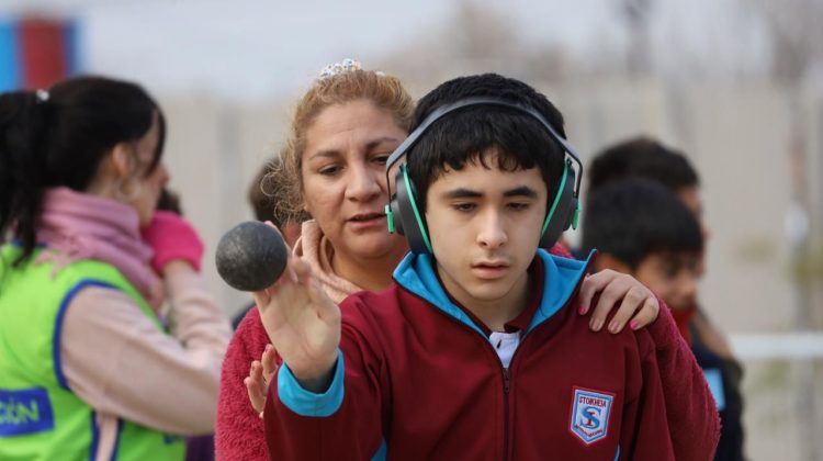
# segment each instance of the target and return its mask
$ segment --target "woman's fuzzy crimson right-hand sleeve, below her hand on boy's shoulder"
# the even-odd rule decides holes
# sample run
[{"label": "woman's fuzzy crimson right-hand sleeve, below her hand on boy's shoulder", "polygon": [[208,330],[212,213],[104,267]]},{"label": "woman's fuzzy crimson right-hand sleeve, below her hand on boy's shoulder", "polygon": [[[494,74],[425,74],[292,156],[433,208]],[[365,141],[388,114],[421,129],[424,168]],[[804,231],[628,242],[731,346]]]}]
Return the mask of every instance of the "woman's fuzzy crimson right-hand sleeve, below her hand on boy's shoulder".
[{"label": "woman's fuzzy crimson right-hand sleeve, below her hand on boy's shoulder", "polygon": [[710,460],[720,439],[717,405],[668,306],[659,303],[659,316],[647,329],[655,344],[675,456],[684,461]]}]

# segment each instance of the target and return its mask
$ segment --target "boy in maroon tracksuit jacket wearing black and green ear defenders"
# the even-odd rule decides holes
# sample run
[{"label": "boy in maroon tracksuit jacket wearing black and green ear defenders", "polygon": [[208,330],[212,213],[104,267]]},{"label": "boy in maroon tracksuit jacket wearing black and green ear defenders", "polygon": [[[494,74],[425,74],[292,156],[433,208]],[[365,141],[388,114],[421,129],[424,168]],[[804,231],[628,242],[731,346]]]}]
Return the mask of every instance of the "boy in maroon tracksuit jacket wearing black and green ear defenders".
[{"label": "boy in maroon tracksuit jacket wearing black and green ear defenders", "polygon": [[[528,109],[420,122],[489,95]],[[441,85],[417,115],[421,134],[395,151],[407,166],[390,218],[413,249],[395,285],[338,308],[293,260],[292,279],[256,293],[284,361],[266,403],[271,458],[674,459],[650,334],[591,334],[574,313],[588,262],[538,250],[574,218],[560,112],[484,75]],[[699,374],[694,361],[685,372]]]}]

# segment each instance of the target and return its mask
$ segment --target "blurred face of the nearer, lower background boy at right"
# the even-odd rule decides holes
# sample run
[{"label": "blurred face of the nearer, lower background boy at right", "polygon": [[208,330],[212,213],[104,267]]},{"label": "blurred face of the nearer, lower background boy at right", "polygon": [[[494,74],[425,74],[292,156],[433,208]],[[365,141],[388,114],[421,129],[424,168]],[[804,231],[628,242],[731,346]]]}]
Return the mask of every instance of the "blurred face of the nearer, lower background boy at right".
[{"label": "blurred face of the nearer, lower background boy at right", "polygon": [[634,278],[670,308],[688,310],[697,302],[699,260],[699,255],[655,252],[643,258]]}]

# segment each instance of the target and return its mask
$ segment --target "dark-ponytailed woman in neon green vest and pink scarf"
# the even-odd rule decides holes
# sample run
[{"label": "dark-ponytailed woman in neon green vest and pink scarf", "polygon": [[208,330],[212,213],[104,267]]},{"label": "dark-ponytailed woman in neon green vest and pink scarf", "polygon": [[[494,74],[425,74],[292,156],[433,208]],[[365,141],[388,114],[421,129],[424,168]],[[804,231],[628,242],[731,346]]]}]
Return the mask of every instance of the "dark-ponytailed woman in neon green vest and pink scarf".
[{"label": "dark-ponytailed woman in neon green vest and pink scarf", "polygon": [[156,211],[165,132],[126,81],[0,94],[2,460],[182,460],[214,431],[232,330]]}]

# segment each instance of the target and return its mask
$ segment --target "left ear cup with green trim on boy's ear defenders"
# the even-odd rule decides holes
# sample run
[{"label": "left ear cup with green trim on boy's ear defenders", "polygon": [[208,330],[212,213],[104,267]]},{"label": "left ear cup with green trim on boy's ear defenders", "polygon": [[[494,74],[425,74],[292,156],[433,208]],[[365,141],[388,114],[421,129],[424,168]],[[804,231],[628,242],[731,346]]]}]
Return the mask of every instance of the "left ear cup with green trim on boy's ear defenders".
[{"label": "left ear cup with green trim on boy's ear defenders", "polygon": [[395,193],[390,203],[388,221],[390,232],[392,224],[394,231],[406,236],[408,247],[416,254],[431,254],[431,243],[429,241],[426,222],[417,206],[415,184],[408,178],[406,165],[402,164],[394,181]]}]

